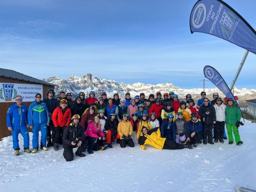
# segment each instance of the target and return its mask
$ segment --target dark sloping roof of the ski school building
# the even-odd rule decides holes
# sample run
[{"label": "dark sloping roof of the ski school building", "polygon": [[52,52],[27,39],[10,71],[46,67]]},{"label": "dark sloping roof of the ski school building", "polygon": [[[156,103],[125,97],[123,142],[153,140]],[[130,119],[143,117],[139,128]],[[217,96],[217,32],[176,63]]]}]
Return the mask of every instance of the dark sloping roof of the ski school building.
[{"label": "dark sloping roof of the ski school building", "polygon": [[17,71],[10,70],[10,69],[0,68],[0,76],[7,77],[7,78],[18,79],[18,80],[22,80],[22,81],[28,81],[28,82],[37,83],[37,84],[54,86],[53,84],[47,83],[47,82],[45,82],[41,79],[30,77],[28,75],[24,75],[22,73],[19,73]]}]

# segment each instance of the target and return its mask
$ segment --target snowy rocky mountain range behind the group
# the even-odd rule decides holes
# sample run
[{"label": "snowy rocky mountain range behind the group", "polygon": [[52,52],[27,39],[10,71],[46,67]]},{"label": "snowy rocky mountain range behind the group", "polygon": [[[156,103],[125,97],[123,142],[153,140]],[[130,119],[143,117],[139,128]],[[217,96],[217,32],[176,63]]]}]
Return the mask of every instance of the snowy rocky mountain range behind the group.
[{"label": "snowy rocky mountain range behind the group", "polygon": [[[43,81],[52,83],[55,86],[55,92],[57,95],[61,91],[71,92],[74,97],[78,95],[79,92],[83,91],[86,95],[89,94],[90,91],[95,91],[96,97],[100,97],[101,93],[105,91],[108,97],[111,95],[113,97],[114,93],[119,93],[119,97],[124,97],[125,93],[128,91],[131,93],[131,97],[135,95],[139,95],[141,92],[145,93],[146,98],[150,93],[156,94],[157,91],[160,91],[162,94],[165,92],[169,93],[173,91],[175,94],[179,95],[179,98],[184,99],[185,95],[190,93],[193,95],[193,98],[200,98],[200,93],[203,89],[195,88],[195,89],[181,89],[178,86],[175,86],[173,83],[161,83],[156,85],[145,84],[145,83],[133,83],[133,84],[125,84],[125,83],[117,83],[113,79],[107,80],[98,77],[94,77],[92,74],[86,74],[82,77],[78,77],[72,75],[67,79],[62,79],[60,77],[49,77],[44,78]],[[223,94],[220,93],[218,88],[215,89],[205,89],[207,93],[207,97],[212,99],[212,94],[214,92],[218,92],[220,97],[223,97]],[[255,89],[236,89],[235,95],[239,97],[240,102],[245,102],[247,99],[253,99],[256,97]],[[240,103],[241,104],[241,103]]]}]

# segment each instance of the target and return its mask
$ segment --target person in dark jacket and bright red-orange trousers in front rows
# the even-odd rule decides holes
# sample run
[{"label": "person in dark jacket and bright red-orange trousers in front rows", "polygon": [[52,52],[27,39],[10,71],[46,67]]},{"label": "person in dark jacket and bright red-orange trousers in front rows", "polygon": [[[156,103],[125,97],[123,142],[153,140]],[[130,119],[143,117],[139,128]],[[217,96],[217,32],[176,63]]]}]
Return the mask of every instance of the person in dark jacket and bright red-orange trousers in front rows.
[{"label": "person in dark jacket and bright red-orange trousers in front rows", "polygon": [[112,113],[110,114],[110,118],[107,119],[108,127],[106,127],[106,131],[108,131],[108,133],[106,136],[106,143],[108,144],[109,148],[113,148],[113,146],[111,145],[111,141],[115,139],[120,139],[119,135],[117,134],[118,121],[116,116],[116,113]]}]

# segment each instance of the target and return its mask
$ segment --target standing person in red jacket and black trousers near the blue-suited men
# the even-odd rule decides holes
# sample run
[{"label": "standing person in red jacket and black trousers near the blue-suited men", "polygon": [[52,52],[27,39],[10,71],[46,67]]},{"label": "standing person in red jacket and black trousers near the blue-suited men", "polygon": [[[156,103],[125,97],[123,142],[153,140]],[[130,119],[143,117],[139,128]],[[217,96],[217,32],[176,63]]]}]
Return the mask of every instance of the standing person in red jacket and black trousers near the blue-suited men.
[{"label": "standing person in red jacket and black trousers near the blue-suited men", "polygon": [[66,99],[60,100],[60,107],[54,109],[52,113],[52,121],[54,124],[54,133],[53,133],[53,147],[55,150],[59,149],[59,145],[62,145],[62,135],[64,128],[69,126],[71,122],[71,111],[67,107],[68,101]]}]

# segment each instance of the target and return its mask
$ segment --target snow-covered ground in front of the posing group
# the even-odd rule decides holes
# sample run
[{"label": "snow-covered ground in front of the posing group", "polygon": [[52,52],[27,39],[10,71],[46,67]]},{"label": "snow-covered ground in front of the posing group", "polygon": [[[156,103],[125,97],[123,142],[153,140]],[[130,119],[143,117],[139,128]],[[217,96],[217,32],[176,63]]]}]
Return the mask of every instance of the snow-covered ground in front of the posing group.
[{"label": "snow-covered ground in front of the posing group", "polygon": [[115,144],[113,149],[75,156],[73,162],[65,161],[63,149],[14,156],[12,138],[7,137],[0,142],[0,191],[256,189],[255,125],[246,121],[239,129],[242,146],[228,145],[227,140],[183,150],[121,149]]}]

